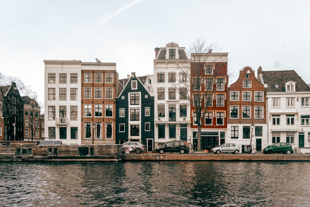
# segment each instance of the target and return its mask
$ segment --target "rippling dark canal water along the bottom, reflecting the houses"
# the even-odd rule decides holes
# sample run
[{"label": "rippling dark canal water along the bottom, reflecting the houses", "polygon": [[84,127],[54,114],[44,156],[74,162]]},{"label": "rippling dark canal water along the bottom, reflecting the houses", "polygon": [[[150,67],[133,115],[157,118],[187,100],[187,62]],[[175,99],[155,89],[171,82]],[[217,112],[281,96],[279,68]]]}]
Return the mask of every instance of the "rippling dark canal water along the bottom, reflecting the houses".
[{"label": "rippling dark canal water along the bottom, reflecting the houses", "polygon": [[310,206],[310,162],[2,162],[0,206]]}]

